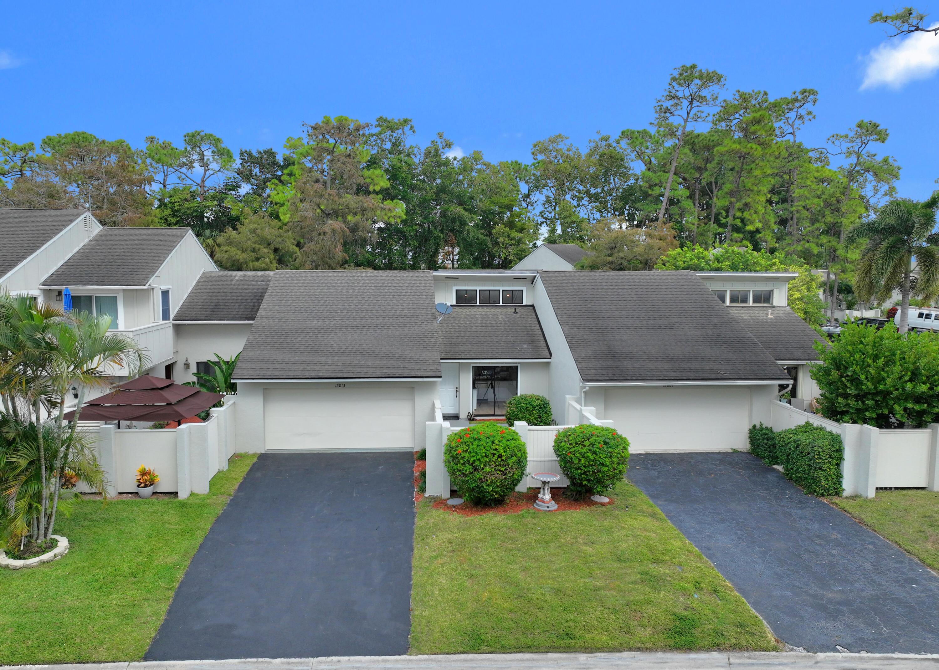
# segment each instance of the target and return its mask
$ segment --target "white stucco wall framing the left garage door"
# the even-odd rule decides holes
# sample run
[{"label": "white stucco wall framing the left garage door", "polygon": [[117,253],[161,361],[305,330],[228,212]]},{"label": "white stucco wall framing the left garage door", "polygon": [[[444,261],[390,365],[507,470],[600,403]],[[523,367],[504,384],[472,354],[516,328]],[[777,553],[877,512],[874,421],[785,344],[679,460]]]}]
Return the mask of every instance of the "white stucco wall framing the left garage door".
[{"label": "white stucco wall framing the left garage door", "polygon": [[[344,382],[349,387],[401,388],[402,393],[414,394],[414,449],[423,449],[426,441],[425,424],[434,420],[434,401],[438,399],[440,383],[418,382]],[[264,451],[264,389],[265,388],[335,388],[335,382],[239,382],[235,404],[238,427],[238,450]],[[349,426],[355,430],[355,426]]]}]

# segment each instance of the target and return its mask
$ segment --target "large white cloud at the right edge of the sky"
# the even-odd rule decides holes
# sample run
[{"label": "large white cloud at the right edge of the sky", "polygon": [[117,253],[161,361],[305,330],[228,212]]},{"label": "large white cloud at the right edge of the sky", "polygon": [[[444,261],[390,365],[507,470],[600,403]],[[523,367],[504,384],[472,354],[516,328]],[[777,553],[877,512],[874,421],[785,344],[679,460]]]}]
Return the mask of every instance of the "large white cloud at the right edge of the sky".
[{"label": "large white cloud at the right edge of the sky", "polygon": [[[939,23],[931,27],[939,26]],[[867,58],[861,89],[875,86],[901,88],[915,79],[927,79],[939,70],[939,36],[932,33],[914,33],[907,38],[892,38]]]}]

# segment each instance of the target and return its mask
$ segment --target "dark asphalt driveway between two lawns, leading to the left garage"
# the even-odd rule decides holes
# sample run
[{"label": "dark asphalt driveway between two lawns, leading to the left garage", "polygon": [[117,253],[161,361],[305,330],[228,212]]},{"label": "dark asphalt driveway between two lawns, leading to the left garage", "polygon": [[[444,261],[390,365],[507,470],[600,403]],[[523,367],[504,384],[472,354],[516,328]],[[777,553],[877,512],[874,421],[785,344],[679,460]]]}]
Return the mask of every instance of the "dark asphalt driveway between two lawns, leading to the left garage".
[{"label": "dark asphalt driveway between two lawns, leading to the left garage", "polygon": [[408,652],[411,453],[266,453],[208,531],[147,661]]}]

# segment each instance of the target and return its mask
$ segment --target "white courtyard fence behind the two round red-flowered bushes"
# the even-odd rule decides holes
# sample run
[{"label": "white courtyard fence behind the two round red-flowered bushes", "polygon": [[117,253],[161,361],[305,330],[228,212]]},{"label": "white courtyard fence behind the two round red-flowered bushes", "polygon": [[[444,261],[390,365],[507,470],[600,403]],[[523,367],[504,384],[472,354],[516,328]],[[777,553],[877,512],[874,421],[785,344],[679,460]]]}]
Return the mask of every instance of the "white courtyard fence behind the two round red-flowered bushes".
[{"label": "white courtyard fence behind the two round red-flowered bushes", "polygon": [[[600,420],[593,416],[593,407],[581,407],[574,396],[569,396],[566,417],[571,425],[590,423],[597,426],[613,427],[610,420]],[[427,421],[427,495],[450,496],[450,475],[443,464],[443,447],[447,437],[461,429],[453,428],[449,421],[443,420],[439,401],[434,401],[434,419]],[[573,421],[573,422],[572,422]],[[532,480],[530,475],[534,472],[554,472],[561,475],[556,486],[567,486],[567,478],[561,472],[558,459],[554,455],[554,437],[558,431],[570,426],[530,426],[525,421],[516,421],[516,433],[525,443],[528,450],[528,468],[526,476],[522,478],[516,491],[524,492],[529,487],[539,487],[541,482]]]}]

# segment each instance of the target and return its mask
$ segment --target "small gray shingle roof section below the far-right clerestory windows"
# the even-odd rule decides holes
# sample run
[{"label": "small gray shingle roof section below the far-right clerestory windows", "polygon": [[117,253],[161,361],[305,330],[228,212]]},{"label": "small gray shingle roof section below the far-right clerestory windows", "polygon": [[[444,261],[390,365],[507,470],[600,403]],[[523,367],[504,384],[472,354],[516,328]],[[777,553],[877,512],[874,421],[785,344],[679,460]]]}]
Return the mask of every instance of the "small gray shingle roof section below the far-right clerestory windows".
[{"label": "small gray shingle roof section below the far-right clerestory windows", "polygon": [[776,360],[819,360],[812,347],[824,338],[788,307],[728,307]]}]

